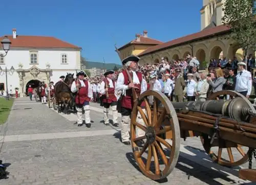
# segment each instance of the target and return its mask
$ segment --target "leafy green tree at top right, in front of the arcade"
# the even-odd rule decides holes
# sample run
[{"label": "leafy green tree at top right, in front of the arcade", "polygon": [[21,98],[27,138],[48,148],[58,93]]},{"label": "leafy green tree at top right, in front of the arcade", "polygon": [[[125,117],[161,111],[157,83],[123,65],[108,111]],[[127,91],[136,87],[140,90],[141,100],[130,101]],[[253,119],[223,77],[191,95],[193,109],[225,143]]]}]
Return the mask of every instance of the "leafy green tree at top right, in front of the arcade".
[{"label": "leafy green tree at top right, in front of the arcade", "polygon": [[231,29],[229,38],[238,42],[244,50],[244,61],[248,49],[255,49],[255,1],[256,0],[226,0],[223,5],[224,16],[222,22]]}]

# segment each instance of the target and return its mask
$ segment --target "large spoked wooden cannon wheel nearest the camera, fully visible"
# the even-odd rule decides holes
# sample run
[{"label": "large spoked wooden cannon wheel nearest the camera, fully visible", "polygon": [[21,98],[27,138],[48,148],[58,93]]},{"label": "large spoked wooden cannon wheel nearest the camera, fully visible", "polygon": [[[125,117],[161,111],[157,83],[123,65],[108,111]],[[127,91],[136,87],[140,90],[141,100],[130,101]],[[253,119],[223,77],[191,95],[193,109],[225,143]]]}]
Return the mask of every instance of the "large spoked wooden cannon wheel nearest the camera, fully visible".
[{"label": "large spoked wooden cannon wheel nearest the camera, fully visible", "polygon": [[[154,99],[152,105],[148,101],[150,98]],[[145,108],[141,107],[142,102],[145,103]],[[138,113],[145,126],[138,123]],[[137,129],[143,130],[145,135],[137,137]],[[145,141],[144,145],[138,147],[136,142],[139,140]],[[180,127],[175,109],[163,93],[145,91],[134,103],[131,115],[131,145],[140,170],[148,178],[163,179],[174,170],[180,152]]]}]

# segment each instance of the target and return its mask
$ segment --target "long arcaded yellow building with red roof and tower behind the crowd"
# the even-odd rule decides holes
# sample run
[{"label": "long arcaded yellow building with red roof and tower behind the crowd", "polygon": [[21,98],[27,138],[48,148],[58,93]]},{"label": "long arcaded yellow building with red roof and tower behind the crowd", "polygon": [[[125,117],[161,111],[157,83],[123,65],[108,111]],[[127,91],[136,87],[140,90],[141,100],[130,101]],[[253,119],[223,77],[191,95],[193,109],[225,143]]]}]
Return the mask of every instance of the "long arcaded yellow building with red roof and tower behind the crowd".
[{"label": "long arcaded yellow building with red roof and tower behind the crowd", "polygon": [[[223,57],[233,59],[237,57],[238,61],[243,60],[243,50],[239,48],[238,43],[231,39],[226,39],[230,29],[222,24],[223,4],[226,0],[203,0],[201,13],[201,31],[190,34],[165,43],[158,43],[149,47],[136,47],[130,45],[121,50],[123,58],[129,55],[137,55],[141,58],[140,65],[146,63],[156,63],[167,58],[168,61],[185,58],[188,54],[200,61],[201,68],[203,62],[209,62],[211,58],[220,59]],[[138,34],[136,35],[136,39]],[[253,54],[249,50],[248,54]]]}]

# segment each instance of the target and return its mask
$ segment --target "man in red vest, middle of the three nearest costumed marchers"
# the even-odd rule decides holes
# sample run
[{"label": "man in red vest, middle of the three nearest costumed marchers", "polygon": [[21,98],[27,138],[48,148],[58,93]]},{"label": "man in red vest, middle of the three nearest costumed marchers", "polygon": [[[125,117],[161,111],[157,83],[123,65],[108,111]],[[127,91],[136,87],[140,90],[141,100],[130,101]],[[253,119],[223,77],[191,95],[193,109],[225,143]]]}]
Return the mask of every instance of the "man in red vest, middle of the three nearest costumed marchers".
[{"label": "man in red vest, middle of the three nearest costumed marchers", "polygon": [[[111,106],[112,112],[113,112],[113,126],[118,126],[117,119],[118,119],[118,113],[116,110],[117,105],[117,97],[115,95],[115,81],[113,80],[113,73],[114,71],[109,70],[106,71],[103,75],[105,76],[103,78],[103,81],[100,84],[100,94],[102,98],[101,107],[103,107],[103,119],[104,124],[109,125],[109,108]],[[108,92],[108,97],[107,93]]]}]

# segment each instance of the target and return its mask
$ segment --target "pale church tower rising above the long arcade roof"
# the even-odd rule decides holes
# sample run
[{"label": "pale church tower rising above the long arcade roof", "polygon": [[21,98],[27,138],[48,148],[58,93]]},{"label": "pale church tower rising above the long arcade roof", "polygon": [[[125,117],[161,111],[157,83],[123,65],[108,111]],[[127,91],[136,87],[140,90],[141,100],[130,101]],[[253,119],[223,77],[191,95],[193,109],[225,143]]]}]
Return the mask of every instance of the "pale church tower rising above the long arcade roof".
[{"label": "pale church tower rising above the long arcade roof", "polygon": [[201,30],[217,27],[222,24],[222,6],[226,0],[203,0],[201,13]]}]

